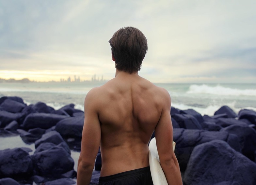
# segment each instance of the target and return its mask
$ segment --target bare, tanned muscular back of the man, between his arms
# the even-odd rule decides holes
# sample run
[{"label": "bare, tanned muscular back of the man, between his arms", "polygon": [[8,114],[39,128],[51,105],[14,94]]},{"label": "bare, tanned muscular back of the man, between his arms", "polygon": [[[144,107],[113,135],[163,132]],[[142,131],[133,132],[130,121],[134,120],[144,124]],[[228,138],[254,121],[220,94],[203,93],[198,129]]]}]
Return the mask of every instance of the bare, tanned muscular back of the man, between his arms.
[{"label": "bare, tanned muscular back of the man, between his arms", "polygon": [[131,75],[120,75],[98,89],[101,176],[149,166],[148,142],[161,116],[162,91]]}]

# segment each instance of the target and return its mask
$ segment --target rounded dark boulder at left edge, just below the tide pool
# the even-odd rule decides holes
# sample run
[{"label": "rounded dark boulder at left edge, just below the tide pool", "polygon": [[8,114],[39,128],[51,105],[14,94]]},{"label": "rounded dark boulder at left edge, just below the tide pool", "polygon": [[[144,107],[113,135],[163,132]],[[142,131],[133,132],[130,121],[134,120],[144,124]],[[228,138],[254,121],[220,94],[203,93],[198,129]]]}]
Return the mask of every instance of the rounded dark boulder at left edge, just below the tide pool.
[{"label": "rounded dark boulder at left edge, just below the tide pool", "polygon": [[0,177],[26,178],[32,174],[31,156],[24,148],[0,150]]}]

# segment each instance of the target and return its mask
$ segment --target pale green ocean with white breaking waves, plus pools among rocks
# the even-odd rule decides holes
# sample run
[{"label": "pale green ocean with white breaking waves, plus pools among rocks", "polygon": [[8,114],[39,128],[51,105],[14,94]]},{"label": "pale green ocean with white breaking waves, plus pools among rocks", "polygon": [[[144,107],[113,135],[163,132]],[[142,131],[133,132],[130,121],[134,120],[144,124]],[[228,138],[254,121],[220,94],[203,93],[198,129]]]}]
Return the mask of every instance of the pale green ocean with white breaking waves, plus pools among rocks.
[{"label": "pale green ocean with white breaking waves, plus pools among rocks", "polygon": [[[0,97],[19,96],[23,98],[27,105],[40,101],[55,109],[73,103],[76,109],[84,110],[84,99],[88,91],[101,85],[103,83],[0,83]],[[256,111],[256,83],[157,83],[155,85],[163,87],[169,92],[172,99],[172,107],[181,110],[191,108],[202,116],[213,116],[214,112],[223,105],[231,107],[236,113],[245,108]],[[15,147],[29,147],[35,150],[34,144],[26,145],[20,136],[0,138],[0,150]],[[74,159],[74,169],[76,170],[79,152],[72,151],[71,156]]]}]

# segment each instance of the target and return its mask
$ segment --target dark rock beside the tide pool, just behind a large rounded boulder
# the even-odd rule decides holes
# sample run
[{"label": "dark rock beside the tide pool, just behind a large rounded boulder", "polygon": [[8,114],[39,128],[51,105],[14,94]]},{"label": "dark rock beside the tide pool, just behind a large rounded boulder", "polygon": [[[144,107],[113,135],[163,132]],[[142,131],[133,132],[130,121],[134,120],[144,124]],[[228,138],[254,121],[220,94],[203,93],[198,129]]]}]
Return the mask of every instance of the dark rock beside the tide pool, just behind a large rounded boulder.
[{"label": "dark rock beside the tide pool, just behind a large rounded boulder", "polygon": [[37,148],[41,143],[48,143],[48,142],[58,145],[61,142],[65,142],[65,141],[58,132],[51,131],[42,135],[42,137],[35,142],[35,147]]}]

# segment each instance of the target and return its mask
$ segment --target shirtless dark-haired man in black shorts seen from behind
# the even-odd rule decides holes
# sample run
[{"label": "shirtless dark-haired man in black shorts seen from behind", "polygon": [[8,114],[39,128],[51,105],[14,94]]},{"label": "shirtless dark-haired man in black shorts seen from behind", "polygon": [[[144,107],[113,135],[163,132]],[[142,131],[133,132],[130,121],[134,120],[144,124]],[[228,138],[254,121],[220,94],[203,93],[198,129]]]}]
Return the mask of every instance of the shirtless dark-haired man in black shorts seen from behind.
[{"label": "shirtless dark-haired man in black shorts seen from behind", "polygon": [[151,185],[149,147],[153,131],[160,164],[169,185],[182,184],[172,149],[169,93],[140,77],[147,39],[133,27],[121,28],[109,41],[116,76],[85,98],[85,122],[77,185],[89,185],[100,146],[100,185]]}]

